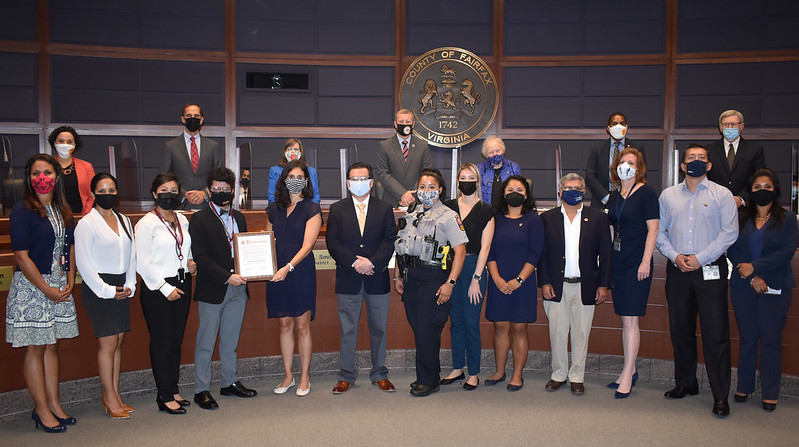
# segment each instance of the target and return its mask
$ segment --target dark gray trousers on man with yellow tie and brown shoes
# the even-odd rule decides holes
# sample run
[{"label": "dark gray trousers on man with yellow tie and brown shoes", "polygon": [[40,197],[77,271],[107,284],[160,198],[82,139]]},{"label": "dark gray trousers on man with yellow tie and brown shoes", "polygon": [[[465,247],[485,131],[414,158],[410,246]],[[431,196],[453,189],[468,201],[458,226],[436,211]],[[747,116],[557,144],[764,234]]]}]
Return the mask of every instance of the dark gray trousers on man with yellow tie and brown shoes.
[{"label": "dark gray trousers on man with yellow tie and brown shoes", "polygon": [[369,295],[361,286],[355,295],[338,296],[338,319],[341,325],[341,372],[339,380],[355,383],[358,367],[355,365],[355,349],[358,341],[358,321],[361,319],[362,302],[366,301],[369,324],[369,344],[372,351],[372,382],[388,378],[386,362],[386,324],[388,323],[388,293]]}]

